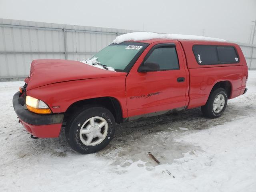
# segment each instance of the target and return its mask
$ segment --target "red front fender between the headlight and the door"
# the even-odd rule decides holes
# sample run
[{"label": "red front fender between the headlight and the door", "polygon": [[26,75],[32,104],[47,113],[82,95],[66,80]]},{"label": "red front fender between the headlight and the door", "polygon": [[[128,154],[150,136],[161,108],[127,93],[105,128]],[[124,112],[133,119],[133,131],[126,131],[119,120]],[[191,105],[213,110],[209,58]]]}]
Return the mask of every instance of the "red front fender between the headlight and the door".
[{"label": "red front fender between the headlight and the door", "polygon": [[120,102],[123,117],[127,117],[125,78],[118,76],[60,82],[34,88],[26,94],[44,101],[53,113],[66,112],[70,105],[80,100],[113,97]]}]

